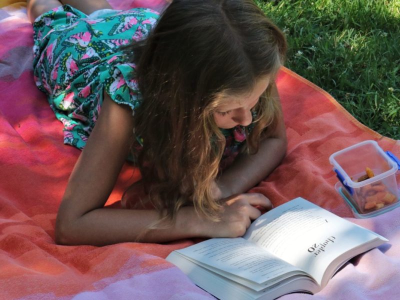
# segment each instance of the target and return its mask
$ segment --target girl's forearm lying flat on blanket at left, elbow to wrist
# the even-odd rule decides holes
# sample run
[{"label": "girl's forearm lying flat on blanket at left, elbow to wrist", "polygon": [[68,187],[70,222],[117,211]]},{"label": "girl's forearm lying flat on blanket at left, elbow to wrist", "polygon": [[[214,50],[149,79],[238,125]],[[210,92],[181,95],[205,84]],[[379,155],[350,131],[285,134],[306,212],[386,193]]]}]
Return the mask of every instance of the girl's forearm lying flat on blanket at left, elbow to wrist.
[{"label": "girl's forearm lying flat on blanket at left, elbow to wrist", "polygon": [[[182,207],[171,226],[146,231],[158,220],[155,210],[97,208],[73,220],[57,219],[59,244],[107,245],[119,242],[166,242],[188,237],[207,237],[207,222],[191,206]],[[168,223],[161,223],[165,225]]]}]

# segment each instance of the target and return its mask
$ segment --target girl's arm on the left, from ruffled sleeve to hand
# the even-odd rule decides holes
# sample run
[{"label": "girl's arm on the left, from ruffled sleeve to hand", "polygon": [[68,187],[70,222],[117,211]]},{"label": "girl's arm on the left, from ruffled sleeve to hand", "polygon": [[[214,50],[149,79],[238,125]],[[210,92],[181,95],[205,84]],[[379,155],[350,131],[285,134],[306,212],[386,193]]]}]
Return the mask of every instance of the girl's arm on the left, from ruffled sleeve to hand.
[{"label": "girl's arm on the left, from ruffled sleeve to hand", "polygon": [[225,202],[221,220],[198,216],[191,206],[179,210],[171,227],[143,230],[158,219],[155,210],[106,208],[106,202],[127,157],[132,141],[130,108],[104,95],[96,125],[80,154],[60,204],[55,240],[61,244],[104,245],[125,241],[163,242],[187,237],[236,237],[244,234],[260,212],[270,208],[261,194],[232,196]]}]

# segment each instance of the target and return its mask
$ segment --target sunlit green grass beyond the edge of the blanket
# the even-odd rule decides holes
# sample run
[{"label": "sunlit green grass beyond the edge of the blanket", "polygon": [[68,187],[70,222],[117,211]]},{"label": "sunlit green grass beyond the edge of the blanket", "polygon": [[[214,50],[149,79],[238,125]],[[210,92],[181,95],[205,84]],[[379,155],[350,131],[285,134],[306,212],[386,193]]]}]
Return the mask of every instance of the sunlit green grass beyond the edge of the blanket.
[{"label": "sunlit green grass beyond the edge of the blanket", "polygon": [[400,139],[400,0],[257,0],[286,34],[285,66]]}]

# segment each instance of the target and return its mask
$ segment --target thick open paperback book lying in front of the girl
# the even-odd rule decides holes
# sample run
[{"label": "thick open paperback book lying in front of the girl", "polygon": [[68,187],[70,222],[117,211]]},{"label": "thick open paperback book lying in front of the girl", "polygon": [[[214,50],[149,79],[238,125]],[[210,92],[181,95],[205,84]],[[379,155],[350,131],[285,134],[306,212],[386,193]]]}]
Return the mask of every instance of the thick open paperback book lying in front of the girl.
[{"label": "thick open paperback book lying in front of the girl", "polygon": [[166,260],[219,299],[315,293],[351,257],[387,239],[303,198],[262,214],[243,237],[211,238]]}]

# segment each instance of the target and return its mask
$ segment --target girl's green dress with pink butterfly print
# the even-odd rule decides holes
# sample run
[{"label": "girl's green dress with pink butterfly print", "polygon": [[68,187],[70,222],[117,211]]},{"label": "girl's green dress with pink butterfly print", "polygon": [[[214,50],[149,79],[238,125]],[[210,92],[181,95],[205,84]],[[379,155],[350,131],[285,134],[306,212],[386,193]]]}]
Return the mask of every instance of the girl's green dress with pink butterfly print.
[{"label": "girl's green dress with pink butterfly print", "polygon": [[[82,149],[94,127],[103,92],[134,109],[141,96],[135,64],[126,62],[121,45],[146,38],[159,14],[149,8],[105,10],[86,15],[62,5],[33,23],[33,73],[63,123],[64,143]],[[221,161],[233,161],[245,140],[243,126],[224,129],[226,148]],[[138,140],[140,147],[141,141]]]}]

